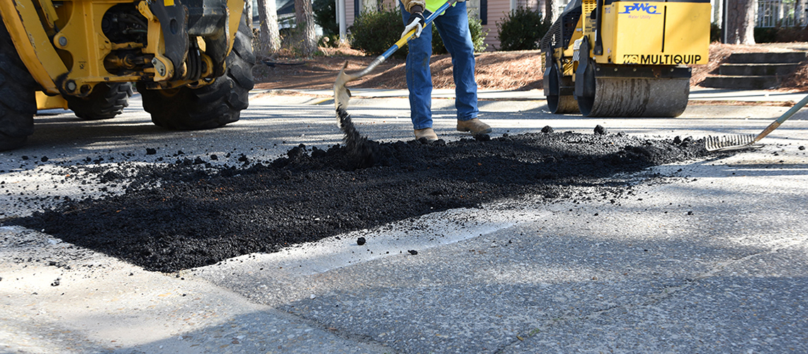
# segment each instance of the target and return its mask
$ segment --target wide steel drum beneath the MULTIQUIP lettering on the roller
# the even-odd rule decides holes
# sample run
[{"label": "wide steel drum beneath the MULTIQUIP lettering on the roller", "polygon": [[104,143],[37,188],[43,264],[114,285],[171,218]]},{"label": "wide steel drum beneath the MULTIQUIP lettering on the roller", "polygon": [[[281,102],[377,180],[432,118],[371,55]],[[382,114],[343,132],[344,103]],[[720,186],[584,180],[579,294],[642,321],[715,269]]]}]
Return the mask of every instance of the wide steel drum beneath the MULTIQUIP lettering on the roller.
[{"label": "wide steel drum beneath the MULTIQUIP lettering on the roller", "polygon": [[594,97],[578,103],[587,117],[678,117],[689,94],[688,78],[595,77]]}]

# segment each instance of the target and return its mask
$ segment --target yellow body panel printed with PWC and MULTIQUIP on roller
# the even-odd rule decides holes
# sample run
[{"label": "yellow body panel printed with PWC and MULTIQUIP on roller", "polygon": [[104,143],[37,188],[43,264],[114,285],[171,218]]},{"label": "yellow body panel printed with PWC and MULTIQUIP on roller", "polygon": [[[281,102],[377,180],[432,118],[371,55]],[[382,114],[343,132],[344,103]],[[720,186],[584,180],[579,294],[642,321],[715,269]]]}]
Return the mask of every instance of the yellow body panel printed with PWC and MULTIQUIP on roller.
[{"label": "yellow body panel printed with PWC and MULTIQUIP on roller", "polygon": [[599,63],[707,64],[709,2],[612,2],[601,25]]}]

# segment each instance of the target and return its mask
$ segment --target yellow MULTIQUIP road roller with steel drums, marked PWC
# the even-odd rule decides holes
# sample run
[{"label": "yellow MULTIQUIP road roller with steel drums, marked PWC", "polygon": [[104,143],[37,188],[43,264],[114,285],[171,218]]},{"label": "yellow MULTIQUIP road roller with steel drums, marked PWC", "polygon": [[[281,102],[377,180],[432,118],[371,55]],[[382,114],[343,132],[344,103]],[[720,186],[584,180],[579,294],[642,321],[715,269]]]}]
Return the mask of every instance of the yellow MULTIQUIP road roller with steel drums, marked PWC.
[{"label": "yellow MULTIQUIP road roller with steel drums, marked PWC", "polygon": [[549,110],[676,117],[709,59],[708,0],[573,0],[541,39]]}]

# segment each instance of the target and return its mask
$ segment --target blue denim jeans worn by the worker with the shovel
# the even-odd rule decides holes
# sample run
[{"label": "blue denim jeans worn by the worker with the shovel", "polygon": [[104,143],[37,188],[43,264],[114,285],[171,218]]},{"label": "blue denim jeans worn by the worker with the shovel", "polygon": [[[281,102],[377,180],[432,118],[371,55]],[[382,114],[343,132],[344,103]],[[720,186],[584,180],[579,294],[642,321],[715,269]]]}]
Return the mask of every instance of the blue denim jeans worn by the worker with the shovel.
[{"label": "blue denim jeans worn by the worker with the shovel", "polygon": [[[410,19],[410,13],[398,2],[402,18]],[[424,17],[430,12],[424,10]],[[474,81],[474,46],[469,31],[469,15],[465,2],[457,2],[435,21],[440,39],[452,56],[452,73],[455,81],[455,108],[458,120],[477,118],[477,81]],[[406,56],[406,87],[410,90],[410,119],[417,129],[432,127],[432,74],[429,58],[432,56],[432,28],[427,26],[419,38],[410,40],[410,53]]]}]

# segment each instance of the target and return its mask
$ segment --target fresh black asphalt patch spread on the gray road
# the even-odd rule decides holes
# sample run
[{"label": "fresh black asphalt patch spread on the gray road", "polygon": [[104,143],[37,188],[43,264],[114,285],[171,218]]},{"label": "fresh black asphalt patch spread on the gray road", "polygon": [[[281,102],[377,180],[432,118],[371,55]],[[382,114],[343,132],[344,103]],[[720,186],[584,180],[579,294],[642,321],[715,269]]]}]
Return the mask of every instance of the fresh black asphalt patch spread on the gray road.
[{"label": "fresh black asphalt patch spread on the gray road", "polygon": [[[104,176],[109,183],[131,182],[124,194],[68,201],[6,224],[173,272],[525,194],[548,202],[608,200],[629,188],[610,178],[617,173],[706,154],[703,142],[689,138],[594,131],[378,143],[343,118],[346,144],[325,150],[300,145],[269,163],[241,168],[204,169],[187,160],[142,166],[134,177]],[[580,187],[587,193],[576,194]]]}]

